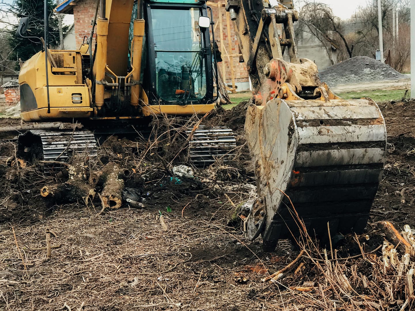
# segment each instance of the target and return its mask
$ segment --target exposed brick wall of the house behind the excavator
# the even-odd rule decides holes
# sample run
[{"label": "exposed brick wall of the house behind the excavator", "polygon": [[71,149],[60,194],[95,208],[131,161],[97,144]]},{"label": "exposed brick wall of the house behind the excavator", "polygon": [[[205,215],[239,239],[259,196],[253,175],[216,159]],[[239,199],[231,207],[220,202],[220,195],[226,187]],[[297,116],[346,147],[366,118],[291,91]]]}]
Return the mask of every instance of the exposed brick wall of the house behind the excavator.
[{"label": "exposed brick wall of the house behind the excavator", "polygon": [[[247,69],[245,67],[245,63],[239,63],[238,56],[226,56],[227,54],[238,54],[239,47],[238,41],[235,36],[234,28],[232,25],[232,21],[229,20],[229,32],[231,37],[231,44],[229,46],[228,41],[228,25],[227,25],[227,18],[226,15],[229,14],[225,11],[224,1],[213,0],[215,4],[222,3],[221,11],[221,19],[222,19],[222,36],[220,34],[220,24],[219,24],[219,9],[217,6],[212,6],[212,13],[213,13],[213,20],[215,22],[215,41],[218,44],[219,50],[224,51],[222,53],[222,60],[224,65],[218,63],[218,68],[221,70],[222,76],[226,79],[226,83],[232,83],[232,72],[234,74],[235,83],[238,82],[247,82],[249,81]],[[77,5],[73,6],[73,17],[74,17],[74,24],[75,24],[75,39],[76,39],[76,46],[79,48],[83,42],[84,36],[90,36],[91,31],[91,22],[94,18],[95,14],[95,4],[96,0],[82,0],[76,2]],[[95,27],[96,30],[96,27]],[[95,44],[95,34],[93,43]],[[93,45],[94,45],[93,44]],[[223,48],[222,48],[223,44]],[[93,46],[94,47],[94,46]],[[233,69],[232,69],[233,65]],[[225,73],[223,72],[225,68]]]}]

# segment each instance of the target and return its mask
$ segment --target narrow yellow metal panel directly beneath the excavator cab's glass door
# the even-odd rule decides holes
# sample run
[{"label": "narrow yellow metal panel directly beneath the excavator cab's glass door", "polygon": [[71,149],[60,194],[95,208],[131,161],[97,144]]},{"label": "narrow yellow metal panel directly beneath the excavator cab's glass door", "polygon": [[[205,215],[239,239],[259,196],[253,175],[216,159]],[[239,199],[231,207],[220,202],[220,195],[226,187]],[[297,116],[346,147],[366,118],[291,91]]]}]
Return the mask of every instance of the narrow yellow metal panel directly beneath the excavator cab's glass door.
[{"label": "narrow yellow metal panel directly beneath the excavator cab's glass door", "polygon": [[199,105],[147,105],[142,109],[144,116],[152,114],[168,114],[168,115],[192,115],[206,114],[210,110],[215,109],[215,104],[199,104]]}]

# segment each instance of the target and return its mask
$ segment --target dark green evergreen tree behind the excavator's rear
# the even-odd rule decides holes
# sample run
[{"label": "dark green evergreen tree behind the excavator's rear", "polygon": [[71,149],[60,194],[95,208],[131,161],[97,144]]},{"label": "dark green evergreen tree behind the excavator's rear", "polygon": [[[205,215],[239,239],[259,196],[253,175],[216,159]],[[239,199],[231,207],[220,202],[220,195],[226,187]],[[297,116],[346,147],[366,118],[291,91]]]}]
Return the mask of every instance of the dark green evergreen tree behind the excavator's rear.
[{"label": "dark green evergreen tree behind the excavator's rear", "polygon": [[[49,16],[48,43],[52,46],[59,45],[59,23],[58,17],[53,12],[56,3],[53,0],[47,1],[47,11]],[[25,36],[44,36],[44,1],[43,0],[15,0],[13,2],[15,16],[17,19],[29,17],[29,26]],[[66,30],[68,27],[65,27]],[[13,32],[17,30],[17,25]],[[10,36],[8,40],[10,48],[13,50],[12,60],[28,60],[34,54],[42,50],[42,44],[38,39],[21,38],[20,36]],[[17,66],[18,68],[19,66]]]}]

